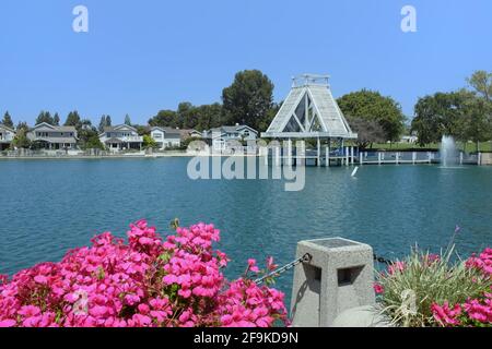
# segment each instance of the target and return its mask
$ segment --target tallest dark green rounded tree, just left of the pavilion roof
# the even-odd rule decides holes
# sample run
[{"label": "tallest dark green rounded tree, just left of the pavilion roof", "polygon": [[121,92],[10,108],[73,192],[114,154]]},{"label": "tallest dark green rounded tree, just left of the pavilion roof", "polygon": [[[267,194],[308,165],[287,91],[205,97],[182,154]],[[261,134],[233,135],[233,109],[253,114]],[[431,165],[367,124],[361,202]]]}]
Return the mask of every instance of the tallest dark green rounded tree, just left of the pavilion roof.
[{"label": "tallest dark green rounded tree, just left of the pavilion roof", "polygon": [[273,87],[270,79],[259,70],[238,72],[232,85],[222,92],[226,119],[258,129],[272,108]]}]

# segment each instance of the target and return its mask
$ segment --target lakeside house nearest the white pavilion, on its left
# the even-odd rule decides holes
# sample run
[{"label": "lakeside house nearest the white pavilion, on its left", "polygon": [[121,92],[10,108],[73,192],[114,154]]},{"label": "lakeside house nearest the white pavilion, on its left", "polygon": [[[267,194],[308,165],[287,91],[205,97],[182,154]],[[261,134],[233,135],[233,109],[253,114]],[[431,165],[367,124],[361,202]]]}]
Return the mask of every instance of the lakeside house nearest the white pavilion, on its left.
[{"label": "lakeside house nearest the white pavilion, on its left", "polygon": [[256,141],[258,131],[246,124],[222,125],[204,131],[202,137],[214,151],[225,151],[235,142]]}]

